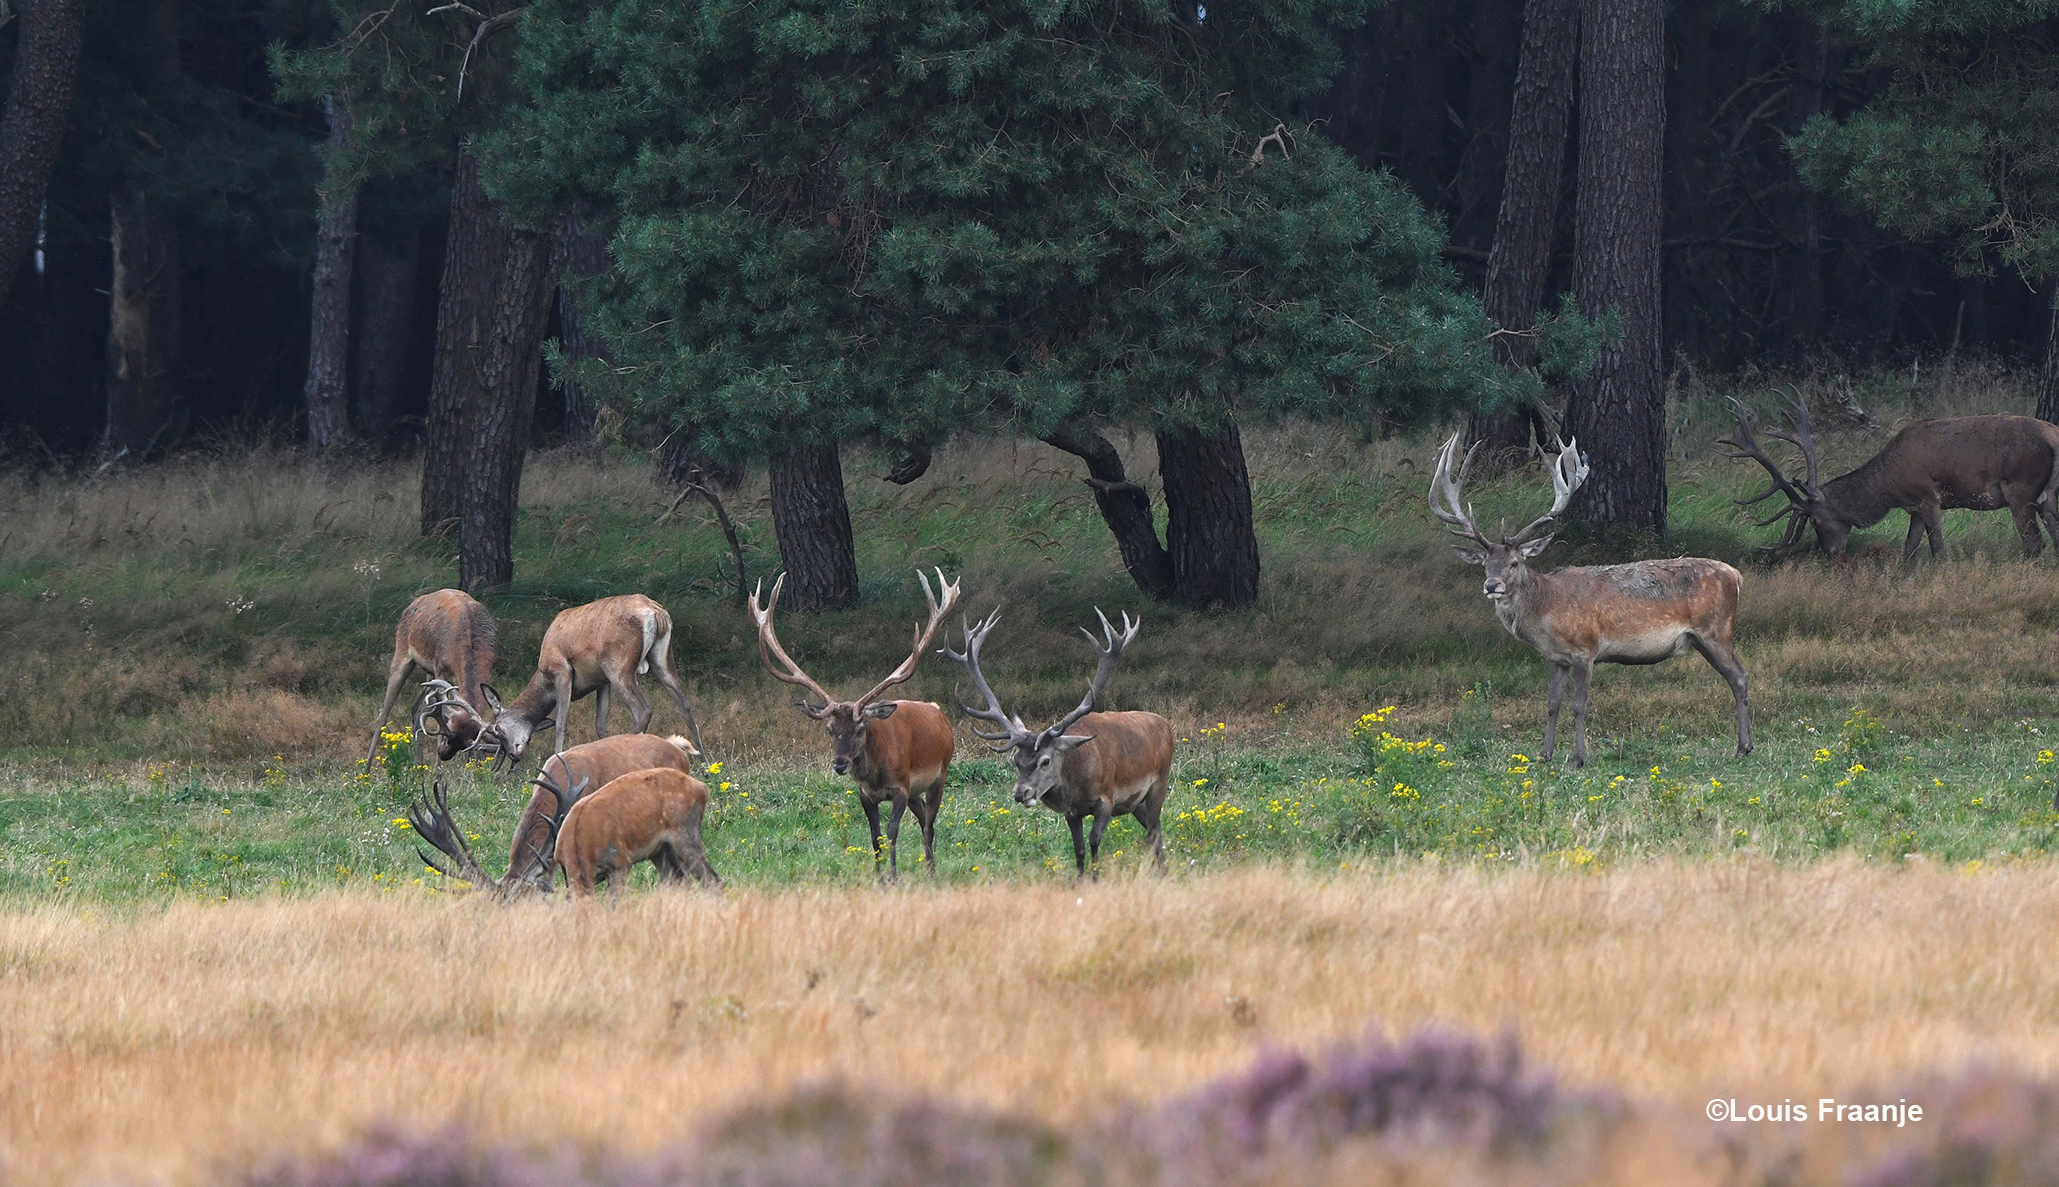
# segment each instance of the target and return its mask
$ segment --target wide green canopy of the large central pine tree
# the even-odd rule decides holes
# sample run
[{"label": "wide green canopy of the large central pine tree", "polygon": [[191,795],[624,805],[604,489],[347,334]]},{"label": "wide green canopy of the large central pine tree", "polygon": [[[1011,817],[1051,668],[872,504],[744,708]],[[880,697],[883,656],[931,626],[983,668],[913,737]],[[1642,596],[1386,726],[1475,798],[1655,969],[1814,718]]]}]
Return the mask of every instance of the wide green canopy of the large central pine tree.
[{"label": "wide green canopy of the large central pine tree", "polygon": [[719,453],[1497,402],[1441,225],[1283,128],[1361,8],[542,0],[482,150],[603,216],[593,379]]}]

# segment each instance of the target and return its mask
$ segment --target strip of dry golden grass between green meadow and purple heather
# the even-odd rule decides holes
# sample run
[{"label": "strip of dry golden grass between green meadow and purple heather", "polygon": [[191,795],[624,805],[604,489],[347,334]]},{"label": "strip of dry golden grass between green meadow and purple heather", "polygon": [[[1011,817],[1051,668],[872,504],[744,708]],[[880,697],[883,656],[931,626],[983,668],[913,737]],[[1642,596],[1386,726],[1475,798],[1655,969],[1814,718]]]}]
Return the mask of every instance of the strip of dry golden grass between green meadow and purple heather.
[{"label": "strip of dry golden grass between green meadow and purple heather", "polygon": [[1622,1090],[1614,1173],[1655,1181],[1715,1094],[2059,1072],[2059,870],[51,905],[0,915],[0,1002],[12,1187],[191,1183],[393,1117],[644,1150],[826,1076],[1069,1121],[1423,1022]]}]

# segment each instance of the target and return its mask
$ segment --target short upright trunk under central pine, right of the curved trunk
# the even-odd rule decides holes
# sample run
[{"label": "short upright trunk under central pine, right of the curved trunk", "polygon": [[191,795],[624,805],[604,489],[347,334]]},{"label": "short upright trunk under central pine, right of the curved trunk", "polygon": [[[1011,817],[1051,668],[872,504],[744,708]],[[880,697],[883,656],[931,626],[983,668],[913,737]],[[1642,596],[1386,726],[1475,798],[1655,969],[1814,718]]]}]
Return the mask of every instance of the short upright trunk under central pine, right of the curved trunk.
[{"label": "short upright trunk under central pine, right of the curved trunk", "polygon": [[1244,437],[1235,425],[1165,429],[1157,443],[1174,598],[1202,610],[1250,606],[1258,598],[1258,536]]}]

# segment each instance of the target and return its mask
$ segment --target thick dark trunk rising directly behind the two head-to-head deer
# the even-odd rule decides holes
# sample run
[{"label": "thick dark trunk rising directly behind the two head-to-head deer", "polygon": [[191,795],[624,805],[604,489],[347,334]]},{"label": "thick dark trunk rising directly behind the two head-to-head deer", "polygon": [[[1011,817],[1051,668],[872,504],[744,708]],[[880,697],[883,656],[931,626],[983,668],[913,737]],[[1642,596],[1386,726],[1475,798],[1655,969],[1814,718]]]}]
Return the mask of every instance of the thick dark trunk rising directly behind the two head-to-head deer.
[{"label": "thick dark trunk rising directly behind the two head-to-head deer", "polygon": [[432,530],[457,517],[463,589],[515,577],[515,503],[548,319],[550,235],[502,221],[478,159],[459,152],[437,301],[422,521]]}]

